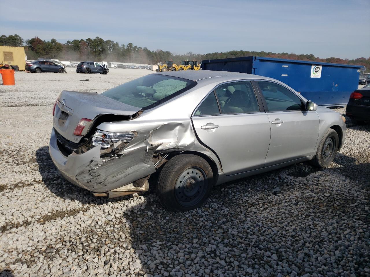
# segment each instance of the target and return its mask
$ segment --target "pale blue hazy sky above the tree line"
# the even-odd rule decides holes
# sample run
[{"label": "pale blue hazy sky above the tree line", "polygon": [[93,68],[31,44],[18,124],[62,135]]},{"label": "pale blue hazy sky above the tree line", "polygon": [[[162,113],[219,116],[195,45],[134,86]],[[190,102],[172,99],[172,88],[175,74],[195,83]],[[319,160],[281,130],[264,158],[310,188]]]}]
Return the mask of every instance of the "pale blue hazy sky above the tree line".
[{"label": "pale blue hazy sky above the tree line", "polygon": [[[370,57],[370,1],[7,1],[0,34],[94,38],[175,54],[249,50]],[[4,12],[6,11],[6,12]]]}]

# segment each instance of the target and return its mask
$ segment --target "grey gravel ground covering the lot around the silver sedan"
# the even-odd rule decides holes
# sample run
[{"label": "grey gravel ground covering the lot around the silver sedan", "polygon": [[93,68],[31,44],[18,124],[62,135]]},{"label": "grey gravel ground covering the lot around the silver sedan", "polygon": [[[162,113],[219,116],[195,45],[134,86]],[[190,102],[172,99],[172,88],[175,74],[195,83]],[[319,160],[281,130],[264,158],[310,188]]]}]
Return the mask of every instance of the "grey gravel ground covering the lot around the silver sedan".
[{"label": "grey gravel ground covering the lot around the silver sedan", "polygon": [[17,72],[16,86],[0,86],[0,276],[370,276],[369,125],[347,119],[330,168],[240,179],[199,209],[169,213],[154,193],[95,198],[55,169],[58,93],[151,73],[73,72]]}]

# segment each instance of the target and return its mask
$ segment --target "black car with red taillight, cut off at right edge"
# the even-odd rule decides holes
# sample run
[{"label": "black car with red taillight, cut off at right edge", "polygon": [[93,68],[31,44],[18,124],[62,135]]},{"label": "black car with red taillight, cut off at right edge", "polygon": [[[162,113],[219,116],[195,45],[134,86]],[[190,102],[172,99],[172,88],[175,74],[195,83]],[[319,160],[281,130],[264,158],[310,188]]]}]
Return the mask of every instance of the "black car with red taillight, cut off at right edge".
[{"label": "black car with red taillight, cut off at right edge", "polygon": [[362,89],[356,89],[349,98],[346,116],[354,124],[370,121],[370,83]]}]

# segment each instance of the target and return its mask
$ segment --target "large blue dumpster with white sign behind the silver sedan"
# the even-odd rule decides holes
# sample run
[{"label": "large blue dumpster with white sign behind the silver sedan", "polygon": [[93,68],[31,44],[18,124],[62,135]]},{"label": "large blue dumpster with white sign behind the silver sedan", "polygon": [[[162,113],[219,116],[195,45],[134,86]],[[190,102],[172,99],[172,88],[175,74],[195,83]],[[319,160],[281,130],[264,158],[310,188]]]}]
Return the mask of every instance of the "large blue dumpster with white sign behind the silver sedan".
[{"label": "large blue dumpster with white sign behind the silver sedan", "polygon": [[240,57],[202,61],[202,70],[242,72],[286,83],[317,105],[346,105],[358,89],[361,65],[329,64],[265,57]]}]

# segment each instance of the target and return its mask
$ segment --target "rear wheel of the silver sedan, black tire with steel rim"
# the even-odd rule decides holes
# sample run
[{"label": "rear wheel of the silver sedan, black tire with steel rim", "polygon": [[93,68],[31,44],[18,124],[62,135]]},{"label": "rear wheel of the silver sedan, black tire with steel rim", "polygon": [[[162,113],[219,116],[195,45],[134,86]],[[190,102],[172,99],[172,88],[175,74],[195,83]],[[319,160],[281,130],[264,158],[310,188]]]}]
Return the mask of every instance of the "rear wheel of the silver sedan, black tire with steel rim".
[{"label": "rear wheel of the silver sedan, black tire with steel rim", "polygon": [[157,196],[169,211],[184,212],[199,208],[211,194],[212,187],[213,172],[209,164],[197,155],[181,154],[162,168]]}]

